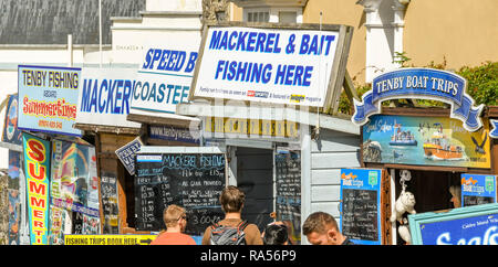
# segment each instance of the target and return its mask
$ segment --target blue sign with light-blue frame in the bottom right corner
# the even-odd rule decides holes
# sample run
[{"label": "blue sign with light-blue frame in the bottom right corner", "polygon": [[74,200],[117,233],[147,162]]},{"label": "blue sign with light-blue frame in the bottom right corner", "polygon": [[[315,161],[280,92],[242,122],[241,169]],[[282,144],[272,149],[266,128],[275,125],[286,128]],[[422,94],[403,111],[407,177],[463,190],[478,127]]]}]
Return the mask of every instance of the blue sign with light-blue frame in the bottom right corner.
[{"label": "blue sign with light-blue frame in the bottom right corner", "polygon": [[498,204],[408,215],[413,245],[497,245]]}]

